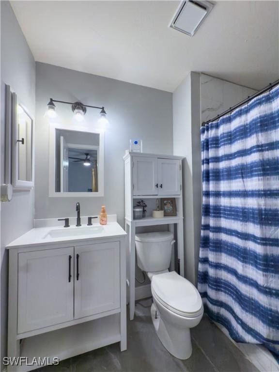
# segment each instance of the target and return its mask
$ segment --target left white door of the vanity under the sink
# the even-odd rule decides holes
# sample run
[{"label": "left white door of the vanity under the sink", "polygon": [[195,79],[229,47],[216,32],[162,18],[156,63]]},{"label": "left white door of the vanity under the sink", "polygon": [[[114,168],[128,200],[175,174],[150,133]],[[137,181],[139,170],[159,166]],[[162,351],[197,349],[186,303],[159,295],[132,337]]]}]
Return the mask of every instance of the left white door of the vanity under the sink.
[{"label": "left white door of the vanity under the sink", "polygon": [[18,254],[17,333],[74,319],[74,248]]}]

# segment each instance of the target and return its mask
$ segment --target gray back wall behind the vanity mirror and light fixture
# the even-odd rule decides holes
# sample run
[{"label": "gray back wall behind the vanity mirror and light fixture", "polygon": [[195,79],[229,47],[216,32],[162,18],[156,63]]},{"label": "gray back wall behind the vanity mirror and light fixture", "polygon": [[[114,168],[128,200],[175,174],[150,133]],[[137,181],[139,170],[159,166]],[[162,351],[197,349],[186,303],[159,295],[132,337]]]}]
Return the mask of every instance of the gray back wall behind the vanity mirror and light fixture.
[{"label": "gray back wall behind the vanity mirror and light fixture", "polygon": [[[103,198],[48,197],[49,122],[44,117],[49,98],[105,106],[105,193]],[[72,111],[57,104],[58,120],[71,123]],[[94,125],[99,110],[88,109]],[[124,161],[131,138],[143,141],[143,151],[172,154],[172,94],[45,63],[36,63],[35,218],[73,217],[80,202],[82,216],[96,215],[105,204],[124,226]]]}]

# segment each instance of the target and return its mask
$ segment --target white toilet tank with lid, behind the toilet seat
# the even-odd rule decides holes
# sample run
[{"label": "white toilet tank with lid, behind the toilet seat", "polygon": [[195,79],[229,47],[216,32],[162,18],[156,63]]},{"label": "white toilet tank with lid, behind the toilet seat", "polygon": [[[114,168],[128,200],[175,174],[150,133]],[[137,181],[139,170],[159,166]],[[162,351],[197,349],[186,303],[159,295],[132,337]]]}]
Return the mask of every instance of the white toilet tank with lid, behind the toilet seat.
[{"label": "white toilet tank with lid, behind the toilet seat", "polygon": [[166,270],[171,263],[173,234],[169,231],[136,234],[138,266],[142,271]]}]

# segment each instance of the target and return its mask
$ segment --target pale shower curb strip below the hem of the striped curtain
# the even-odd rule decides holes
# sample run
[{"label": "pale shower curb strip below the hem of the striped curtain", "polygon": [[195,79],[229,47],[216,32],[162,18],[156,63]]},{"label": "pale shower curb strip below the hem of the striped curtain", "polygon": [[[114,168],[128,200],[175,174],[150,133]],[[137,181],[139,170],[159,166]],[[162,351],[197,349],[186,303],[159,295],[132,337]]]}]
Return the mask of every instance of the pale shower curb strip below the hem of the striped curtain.
[{"label": "pale shower curb strip below the hem of the striped curtain", "polygon": [[261,372],[279,372],[279,364],[273,355],[262,345],[235,342],[227,329],[214,322],[218,328],[234,343],[234,345],[249,359],[249,361]]}]

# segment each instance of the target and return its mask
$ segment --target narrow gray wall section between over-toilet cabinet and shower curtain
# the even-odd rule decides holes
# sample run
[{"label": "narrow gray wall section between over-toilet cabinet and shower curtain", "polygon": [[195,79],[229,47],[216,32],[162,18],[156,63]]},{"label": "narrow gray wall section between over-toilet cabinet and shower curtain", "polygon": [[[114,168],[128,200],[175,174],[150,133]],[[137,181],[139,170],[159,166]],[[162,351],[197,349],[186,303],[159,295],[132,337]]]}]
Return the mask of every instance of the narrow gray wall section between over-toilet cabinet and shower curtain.
[{"label": "narrow gray wall section between over-toilet cabinet and shower curtain", "polygon": [[200,74],[191,72],[173,93],[173,154],[182,155],[186,278],[197,283],[201,232]]}]

